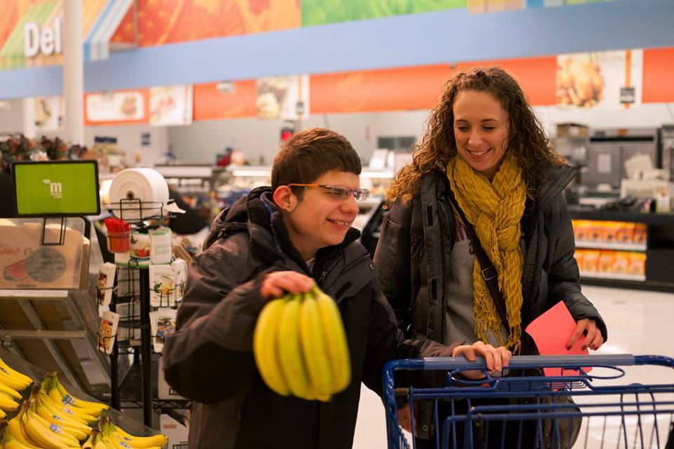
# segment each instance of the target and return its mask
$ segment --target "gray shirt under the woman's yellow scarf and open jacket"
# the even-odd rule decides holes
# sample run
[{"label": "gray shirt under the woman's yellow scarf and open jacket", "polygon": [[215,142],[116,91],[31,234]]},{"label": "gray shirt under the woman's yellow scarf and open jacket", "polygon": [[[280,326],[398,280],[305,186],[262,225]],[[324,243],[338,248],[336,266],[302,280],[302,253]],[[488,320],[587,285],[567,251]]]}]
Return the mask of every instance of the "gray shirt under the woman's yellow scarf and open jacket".
[{"label": "gray shirt under the woman's yellow scarf and open jacket", "polygon": [[[461,218],[454,213],[456,220],[456,234],[454,248],[451,250],[449,274],[447,276],[447,308],[444,320],[444,343],[463,342],[473,344],[477,342],[475,335],[475,321],[473,321],[473,264],[475,264],[475,250]],[[508,335],[501,326],[502,335]],[[490,333],[489,344],[498,347],[498,340],[494,333]],[[505,342],[507,339],[503,339]]]}]

